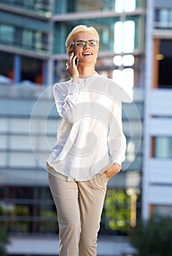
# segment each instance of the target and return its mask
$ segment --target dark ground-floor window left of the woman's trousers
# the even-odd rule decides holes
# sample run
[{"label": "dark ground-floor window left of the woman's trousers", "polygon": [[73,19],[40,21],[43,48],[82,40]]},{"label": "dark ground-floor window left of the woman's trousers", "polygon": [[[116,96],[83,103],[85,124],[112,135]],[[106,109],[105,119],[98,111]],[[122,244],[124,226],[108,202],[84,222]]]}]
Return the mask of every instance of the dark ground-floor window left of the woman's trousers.
[{"label": "dark ground-floor window left of the woman's trousers", "polygon": [[56,233],[57,214],[49,187],[1,187],[0,222],[9,233]]}]

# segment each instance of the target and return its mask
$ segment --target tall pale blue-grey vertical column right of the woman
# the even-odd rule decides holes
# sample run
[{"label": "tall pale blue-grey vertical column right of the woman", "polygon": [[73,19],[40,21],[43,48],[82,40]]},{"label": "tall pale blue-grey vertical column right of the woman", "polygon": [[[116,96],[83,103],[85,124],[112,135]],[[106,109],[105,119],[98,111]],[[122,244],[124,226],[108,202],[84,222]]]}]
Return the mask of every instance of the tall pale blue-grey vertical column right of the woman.
[{"label": "tall pale blue-grey vertical column right of the woman", "polygon": [[144,219],[149,218],[149,159],[151,141],[149,134],[150,123],[150,101],[149,94],[152,90],[152,61],[153,61],[153,27],[154,27],[154,0],[146,1],[146,32],[145,32],[145,83],[144,83],[144,148],[143,148],[143,175],[142,175],[142,217]]}]

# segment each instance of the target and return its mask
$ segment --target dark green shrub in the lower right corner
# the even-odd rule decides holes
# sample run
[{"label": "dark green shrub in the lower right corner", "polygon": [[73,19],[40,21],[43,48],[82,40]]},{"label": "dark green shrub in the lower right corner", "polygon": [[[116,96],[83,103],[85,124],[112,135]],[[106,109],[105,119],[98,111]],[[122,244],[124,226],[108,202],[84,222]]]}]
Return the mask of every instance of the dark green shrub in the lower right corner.
[{"label": "dark green shrub in the lower right corner", "polygon": [[139,256],[172,255],[172,217],[153,216],[130,230],[130,243]]}]

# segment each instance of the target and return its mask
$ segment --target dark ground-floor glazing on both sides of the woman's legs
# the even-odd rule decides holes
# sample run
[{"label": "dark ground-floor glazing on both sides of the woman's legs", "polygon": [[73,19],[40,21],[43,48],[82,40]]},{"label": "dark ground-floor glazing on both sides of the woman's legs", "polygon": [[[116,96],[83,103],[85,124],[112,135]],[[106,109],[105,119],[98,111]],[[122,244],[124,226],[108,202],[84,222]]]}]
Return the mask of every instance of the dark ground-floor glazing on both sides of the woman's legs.
[{"label": "dark ground-floor glazing on both sides of the woman's legs", "polygon": [[[134,194],[133,194],[134,195]],[[139,199],[123,189],[108,189],[101,235],[127,235],[140,215]],[[0,222],[10,234],[58,234],[57,214],[49,187],[0,187]],[[133,217],[133,208],[135,216]]]}]

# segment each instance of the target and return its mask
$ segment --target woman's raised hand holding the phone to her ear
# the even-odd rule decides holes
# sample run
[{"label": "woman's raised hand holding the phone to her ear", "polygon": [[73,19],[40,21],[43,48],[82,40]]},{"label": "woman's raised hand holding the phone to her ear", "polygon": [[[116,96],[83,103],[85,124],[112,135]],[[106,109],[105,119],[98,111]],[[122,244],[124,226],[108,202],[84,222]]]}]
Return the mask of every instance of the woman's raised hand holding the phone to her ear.
[{"label": "woman's raised hand holding the phone to her ear", "polygon": [[71,52],[69,59],[66,63],[66,70],[69,76],[73,79],[79,78],[79,72],[75,64],[76,59],[77,59],[77,55],[74,55],[74,52]]}]

